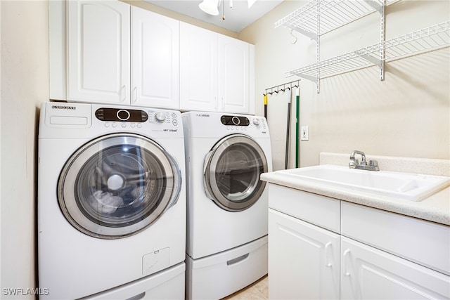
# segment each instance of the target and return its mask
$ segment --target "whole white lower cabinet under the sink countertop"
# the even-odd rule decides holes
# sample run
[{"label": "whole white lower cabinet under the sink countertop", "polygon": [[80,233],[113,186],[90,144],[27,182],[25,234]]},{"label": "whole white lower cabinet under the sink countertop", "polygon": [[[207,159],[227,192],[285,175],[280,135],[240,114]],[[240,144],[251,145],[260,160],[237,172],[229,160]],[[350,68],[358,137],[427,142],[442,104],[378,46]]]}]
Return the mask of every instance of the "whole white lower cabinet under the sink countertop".
[{"label": "whole white lower cabinet under the sink countertop", "polygon": [[270,299],[450,299],[449,256],[450,226],[269,184]]}]

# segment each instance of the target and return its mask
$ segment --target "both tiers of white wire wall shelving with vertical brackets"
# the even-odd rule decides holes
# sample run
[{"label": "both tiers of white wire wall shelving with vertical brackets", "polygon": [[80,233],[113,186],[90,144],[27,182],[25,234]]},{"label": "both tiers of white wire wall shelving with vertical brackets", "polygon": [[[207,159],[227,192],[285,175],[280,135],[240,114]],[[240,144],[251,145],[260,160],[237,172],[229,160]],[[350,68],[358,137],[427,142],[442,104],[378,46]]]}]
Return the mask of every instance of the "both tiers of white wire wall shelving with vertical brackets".
[{"label": "both tiers of white wire wall shelving with vertical brackets", "polygon": [[[320,79],[377,65],[380,80],[385,78],[385,63],[437,48],[449,46],[450,21],[423,30],[385,40],[385,7],[399,0],[311,0],[275,23],[285,26],[316,41],[316,63],[286,73],[316,82],[320,93]],[[380,42],[327,60],[320,59],[321,36],[339,27],[378,12]]]}]

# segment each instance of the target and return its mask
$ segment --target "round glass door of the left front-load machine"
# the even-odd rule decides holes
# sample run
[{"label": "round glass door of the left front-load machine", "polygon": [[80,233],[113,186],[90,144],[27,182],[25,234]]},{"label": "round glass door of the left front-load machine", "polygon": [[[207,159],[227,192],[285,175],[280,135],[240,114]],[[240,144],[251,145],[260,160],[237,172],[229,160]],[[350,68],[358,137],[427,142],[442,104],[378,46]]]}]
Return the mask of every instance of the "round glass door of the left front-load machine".
[{"label": "round glass door of the left front-load machine", "polygon": [[181,171],[154,141],[112,134],[79,148],[58,179],[58,202],[66,219],[93,237],[139,233],[176,203]]}]

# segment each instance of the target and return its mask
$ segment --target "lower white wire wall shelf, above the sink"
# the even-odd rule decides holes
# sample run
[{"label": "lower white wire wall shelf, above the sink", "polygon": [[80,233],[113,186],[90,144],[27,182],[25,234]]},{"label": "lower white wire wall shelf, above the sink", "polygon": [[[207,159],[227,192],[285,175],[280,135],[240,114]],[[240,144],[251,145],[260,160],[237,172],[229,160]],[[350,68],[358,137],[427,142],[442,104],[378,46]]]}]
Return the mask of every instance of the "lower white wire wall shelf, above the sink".
[{"label": "lower white wire wall shelf, above the sink", "polygon": [[[448,46],[450,46],[450,20],[286,72],[286,76],[297,75],[316,81],[318,77],[323,79],[373,65],[381,67],[383,62],[390,62]],[[384,51],[384,60],[380,59],[381,51]]]}]

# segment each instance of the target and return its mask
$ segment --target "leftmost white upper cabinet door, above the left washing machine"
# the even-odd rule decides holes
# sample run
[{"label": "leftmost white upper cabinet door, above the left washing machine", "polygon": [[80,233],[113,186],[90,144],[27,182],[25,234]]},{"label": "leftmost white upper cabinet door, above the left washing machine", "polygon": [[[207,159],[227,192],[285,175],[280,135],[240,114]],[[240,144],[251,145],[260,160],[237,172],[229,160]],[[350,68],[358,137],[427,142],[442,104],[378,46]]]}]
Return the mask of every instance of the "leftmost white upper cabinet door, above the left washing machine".
[{"label": "leftmost white upper cabinet door, above the left washing machine", "polygon": [[129,4],[67,4],[68,100],[129,104]]}]

